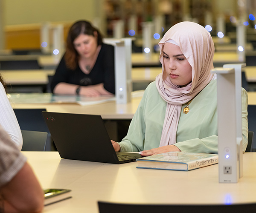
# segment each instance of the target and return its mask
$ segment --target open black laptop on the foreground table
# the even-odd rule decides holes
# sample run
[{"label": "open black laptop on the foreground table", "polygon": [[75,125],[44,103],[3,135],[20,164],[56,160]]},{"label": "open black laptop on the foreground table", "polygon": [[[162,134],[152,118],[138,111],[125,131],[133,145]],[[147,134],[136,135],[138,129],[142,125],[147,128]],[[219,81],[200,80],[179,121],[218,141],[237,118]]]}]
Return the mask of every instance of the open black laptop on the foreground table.
[{"label": "open black laptop on the foreground table", "polygon": [[42,112],[61,158],[122,164],[141,158],[115,152],[100,115]]}]

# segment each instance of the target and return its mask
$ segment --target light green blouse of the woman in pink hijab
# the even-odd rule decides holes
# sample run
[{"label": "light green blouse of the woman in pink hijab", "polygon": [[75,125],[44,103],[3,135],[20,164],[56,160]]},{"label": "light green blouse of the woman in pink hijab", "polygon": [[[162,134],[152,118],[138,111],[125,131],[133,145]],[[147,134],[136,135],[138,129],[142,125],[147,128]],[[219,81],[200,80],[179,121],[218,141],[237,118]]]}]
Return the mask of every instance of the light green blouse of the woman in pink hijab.
[{"label": "light green blouse of the woman in pink hijab", "polygon": [[[247,147],[247,92],[242,89],[243,150]],[[176,144],[182,152],[218,153],[217,85],[212,80],[189,104],[177,127]],[[159,147],[166,101],[159,95],[155,82],[145,89],[143,98],[131,121],[125,138],[119,143],[121,151],[138,152]]]}]

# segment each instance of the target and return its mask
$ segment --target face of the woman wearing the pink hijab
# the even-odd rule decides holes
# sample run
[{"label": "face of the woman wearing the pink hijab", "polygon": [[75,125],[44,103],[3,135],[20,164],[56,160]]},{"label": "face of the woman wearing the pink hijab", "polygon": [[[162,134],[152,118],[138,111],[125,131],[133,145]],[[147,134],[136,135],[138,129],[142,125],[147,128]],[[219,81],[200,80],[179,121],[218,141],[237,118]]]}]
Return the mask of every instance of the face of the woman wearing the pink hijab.
[{"label": "face of the woman wearing the pink hijab", "polygon": [[163,45],[164,78],[179,86],[186,86],[192,81],[192,67],[180,50],[173,43]]}]

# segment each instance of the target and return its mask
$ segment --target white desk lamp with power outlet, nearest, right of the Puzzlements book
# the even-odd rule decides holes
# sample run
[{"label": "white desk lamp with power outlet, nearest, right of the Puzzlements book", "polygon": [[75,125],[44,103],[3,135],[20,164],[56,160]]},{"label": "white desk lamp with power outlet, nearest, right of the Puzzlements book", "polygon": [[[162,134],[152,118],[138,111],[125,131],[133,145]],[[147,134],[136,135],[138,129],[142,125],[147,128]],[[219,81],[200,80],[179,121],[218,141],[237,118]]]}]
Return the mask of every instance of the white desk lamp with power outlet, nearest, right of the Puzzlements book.
[{"label": "white desk lamp with power outlet, nearest, right of the Puzzlements book", "polygon": [[219,182],[237,183],[243,176],[241,67],[226,64],[217,74]]}]

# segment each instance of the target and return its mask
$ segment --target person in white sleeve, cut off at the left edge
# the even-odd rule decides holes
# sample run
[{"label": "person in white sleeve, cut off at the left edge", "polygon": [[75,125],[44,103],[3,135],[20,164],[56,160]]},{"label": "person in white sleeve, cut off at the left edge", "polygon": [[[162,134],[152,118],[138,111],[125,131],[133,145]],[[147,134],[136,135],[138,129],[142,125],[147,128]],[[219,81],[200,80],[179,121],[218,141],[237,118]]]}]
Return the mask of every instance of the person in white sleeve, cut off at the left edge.
[{"label": "person in white sleeve, cut off at the left edge", "polygon": [[16,115],[6,95],[6,83],[0,75],[0,125],[8,133],[14,144],[21,150],[23,145],[22,134]]}]

